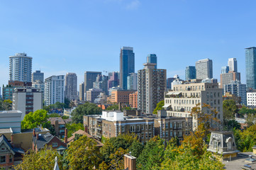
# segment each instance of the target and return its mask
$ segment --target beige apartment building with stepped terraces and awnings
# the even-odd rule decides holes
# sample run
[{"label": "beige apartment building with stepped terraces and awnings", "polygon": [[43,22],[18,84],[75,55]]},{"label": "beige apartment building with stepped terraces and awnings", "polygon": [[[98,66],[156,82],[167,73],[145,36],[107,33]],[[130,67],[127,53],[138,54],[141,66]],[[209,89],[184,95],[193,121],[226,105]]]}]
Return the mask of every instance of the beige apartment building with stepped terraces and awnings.
[{"label": "beige apartment building with stepped terraces and awnings", "polygon": [[[165,95],[167,116],[189,118],[191,109],[200,103],[204,103],[218,111],[217,118],[223,120],[223,89],[218,88],[218,83],[196,83],[196,81],[184,81],[183,84],[174,85],[173,91]],[[210,113],[205,109],[206,113]],[[197,121],[193,118],[193,126],[197,127]]]}]

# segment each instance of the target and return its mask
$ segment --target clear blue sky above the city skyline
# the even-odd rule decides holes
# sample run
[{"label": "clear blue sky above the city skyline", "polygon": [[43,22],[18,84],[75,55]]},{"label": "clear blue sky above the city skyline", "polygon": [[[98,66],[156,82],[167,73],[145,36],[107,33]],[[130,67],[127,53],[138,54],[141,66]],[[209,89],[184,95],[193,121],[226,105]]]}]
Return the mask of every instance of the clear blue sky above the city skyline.
[{"label": "clear blue sky above the city skyline", "polygon": [[120,47],[134,47],[135,70],[157,55],[167,77],[197,60],[213,60],[213,77],[229,57],[245,83],[245,47],[256,46],[256,1],[12,0],[0,1],[0,84],[9,56],[26,52],[45,78],[119,71]]}]

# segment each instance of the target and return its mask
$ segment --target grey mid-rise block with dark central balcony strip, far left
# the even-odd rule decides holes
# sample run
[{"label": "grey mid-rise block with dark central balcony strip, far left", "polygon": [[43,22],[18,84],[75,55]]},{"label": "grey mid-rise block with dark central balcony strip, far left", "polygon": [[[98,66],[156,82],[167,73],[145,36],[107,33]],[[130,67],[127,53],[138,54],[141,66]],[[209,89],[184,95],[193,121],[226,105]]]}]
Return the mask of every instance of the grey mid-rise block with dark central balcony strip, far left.
[{"label": "grey mid-rise block with dark central balcony strip, far left", "polygon": [[26,114],[43,108],[43,98],[40,89],[31,87],[16,88],[13,92],[13,111],[21,111],[21,120]]}]

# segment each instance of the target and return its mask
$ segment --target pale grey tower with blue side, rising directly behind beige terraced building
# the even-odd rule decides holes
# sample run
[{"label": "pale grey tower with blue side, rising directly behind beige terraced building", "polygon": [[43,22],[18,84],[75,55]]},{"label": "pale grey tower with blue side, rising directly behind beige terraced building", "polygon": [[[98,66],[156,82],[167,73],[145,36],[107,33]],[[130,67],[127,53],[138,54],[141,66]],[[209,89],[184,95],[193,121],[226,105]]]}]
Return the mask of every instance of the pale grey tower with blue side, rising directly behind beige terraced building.
[{"label": "pale grey tower with blue side, rising directly behind beige terraced building", "polygon": [[210,59],[196,62],[196,79],[213,78],[213,61]]}]

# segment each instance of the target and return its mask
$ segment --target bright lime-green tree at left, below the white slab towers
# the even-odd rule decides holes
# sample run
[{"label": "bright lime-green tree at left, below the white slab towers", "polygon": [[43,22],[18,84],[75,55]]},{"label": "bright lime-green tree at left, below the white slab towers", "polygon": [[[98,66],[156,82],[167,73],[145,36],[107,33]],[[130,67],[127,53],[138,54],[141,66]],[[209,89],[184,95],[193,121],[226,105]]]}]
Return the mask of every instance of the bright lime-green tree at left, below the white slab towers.
[{"label": "bright lime-green tree at left, below the white slab towers", "polygon": [[47,111],[45,110],[38,110],[35,112],[30,112],[27,115],[25,115],[24,119],[21,122],[21,128],[22,129],[33,129],[40,125],[43,126],[43,128],[50,128],[50,121],[48,119]]}]

